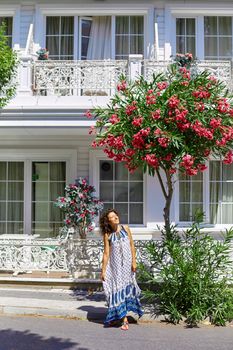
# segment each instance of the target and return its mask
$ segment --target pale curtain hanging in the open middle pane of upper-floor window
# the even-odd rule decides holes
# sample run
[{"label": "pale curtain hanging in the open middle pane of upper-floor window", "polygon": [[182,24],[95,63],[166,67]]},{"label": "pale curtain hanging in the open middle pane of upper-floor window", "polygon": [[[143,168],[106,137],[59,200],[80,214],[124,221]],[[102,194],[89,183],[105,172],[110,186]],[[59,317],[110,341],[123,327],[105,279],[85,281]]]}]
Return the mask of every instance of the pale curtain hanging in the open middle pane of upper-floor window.
[{"label": "pale curtain hanging in the open middle pane of upper-floor window", "polygon": [[92,17],[87,60],[111,58],[111,17]]}]

